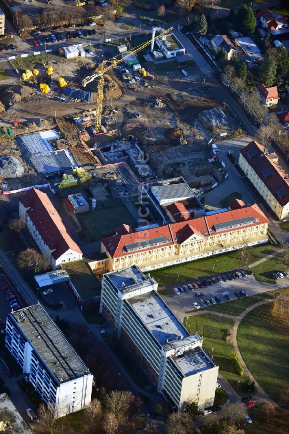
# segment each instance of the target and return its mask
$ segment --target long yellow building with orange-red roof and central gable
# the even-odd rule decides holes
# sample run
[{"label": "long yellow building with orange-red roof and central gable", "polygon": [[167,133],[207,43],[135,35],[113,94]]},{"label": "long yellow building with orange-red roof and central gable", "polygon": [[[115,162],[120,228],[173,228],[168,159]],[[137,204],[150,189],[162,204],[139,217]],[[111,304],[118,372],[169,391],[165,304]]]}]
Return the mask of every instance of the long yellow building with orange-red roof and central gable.
[{"label": "long yellow building with orange-red roof and central gable", "polygon": [[[122,225],[119,235],[101,240],[101,253],[107,255],[104,266],[112,271],[136,264],[143,271],[153,270],[240,249],[244,239],[251,246],[268,241],[269,220],[257,204],[208,214],[143,230]],[[90,266],[97,268],[97,262]]]}]

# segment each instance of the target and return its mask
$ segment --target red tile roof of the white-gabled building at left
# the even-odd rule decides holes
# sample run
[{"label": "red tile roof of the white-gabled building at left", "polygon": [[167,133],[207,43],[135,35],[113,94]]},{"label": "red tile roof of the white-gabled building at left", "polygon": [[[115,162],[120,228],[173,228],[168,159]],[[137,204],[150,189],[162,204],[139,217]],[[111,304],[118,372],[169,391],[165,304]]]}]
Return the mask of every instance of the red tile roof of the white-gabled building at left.
[{"label": "red tile roof of the white-gabled building at left", "polygon": [[30,208],[27,215],[29,215],[42,240],[50,250],[55,249],[52,253],[55,260],[68,249],[82,253],[67,232],[60,215],[55,210],[47,194],[32,188],[20,198],[20,202],[25,208]]}]

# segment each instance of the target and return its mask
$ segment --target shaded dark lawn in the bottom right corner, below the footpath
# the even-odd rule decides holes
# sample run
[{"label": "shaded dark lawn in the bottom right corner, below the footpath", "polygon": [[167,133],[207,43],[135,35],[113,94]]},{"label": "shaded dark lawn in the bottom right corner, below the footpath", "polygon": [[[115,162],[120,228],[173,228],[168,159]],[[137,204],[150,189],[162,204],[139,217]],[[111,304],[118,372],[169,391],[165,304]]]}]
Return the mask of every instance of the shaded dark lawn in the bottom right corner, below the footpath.
[{"label": "shaded dark lawn in the bottom right corner, below the footpath", "polygon": [[263,410],[264,404],[248,409],[252,424],[242,427],[246,434],[284,434],[288,431],[288,414],[276,410],[267,420]]}]

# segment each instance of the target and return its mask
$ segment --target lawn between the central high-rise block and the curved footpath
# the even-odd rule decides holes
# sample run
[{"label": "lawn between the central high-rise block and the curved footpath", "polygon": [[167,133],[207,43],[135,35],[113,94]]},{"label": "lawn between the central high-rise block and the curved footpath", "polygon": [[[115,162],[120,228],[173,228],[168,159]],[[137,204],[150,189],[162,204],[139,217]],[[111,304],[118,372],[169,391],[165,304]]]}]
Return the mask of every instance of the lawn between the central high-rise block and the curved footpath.
[{"label": "lawn between the central high-rise block and the curved footpath", "polygon": [[244,395],[242,391],[244,377],[235,373],[230,360],[230,354],[234,351],[233,344],[224,341],[227,330],[233,328],[234,321],[218,315],[204,314],[190,316],[188,319],[185,318],[184,324],[190,333],[194,334],[198,331],[200,335],[204,336],[203,347],[209,354],[211,354],[212,347],[214,348],[214,360],[219,366],[221,374],[224,375],[235,391],[237,391],[238,381],[240,381],[237,393]]}]

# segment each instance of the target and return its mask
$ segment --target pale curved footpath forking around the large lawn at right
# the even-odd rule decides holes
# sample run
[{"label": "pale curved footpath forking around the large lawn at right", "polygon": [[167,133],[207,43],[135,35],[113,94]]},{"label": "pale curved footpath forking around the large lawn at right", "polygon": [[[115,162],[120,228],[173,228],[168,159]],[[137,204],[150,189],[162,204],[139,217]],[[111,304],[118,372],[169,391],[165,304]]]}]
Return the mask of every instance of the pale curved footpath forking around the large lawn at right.
[{"label": "pale curved footpath forking around the large lawn at right", "polygon": [[[245,363],[244,360],[243,360],[243,357],[242,357],[242,355],[241,355],[241,353],[240,353],[240,350],[239,350],[239,347],[238,347],[238,343],[237,343],[237,330],[238,330],[238,327],[239,327],[239,325],[240,325],[240,322],[241,322],[241,320],[244,318],[244,316],[247,315],[247,313],[249,313],[251,310],[255,309],[255,307],[258,307],[258,306],[261,306],[261,305],[263,305],[263,304],[270,303],[270,302],[273,302],[273,301],[274,301],[274,300],[272,299],[272,300],[263,300],[263,301],[260,301],[260,302],[258,302],[258,303],[255,303],[255,304],[253,304],[252,306],[249,306],[247,309],[245,309],[245,310],[244,310],[240,315],[238,315],[238,316],[227,315],[226,313],[223,313],[223,312],[219,312],[219,313],[218,313],[217,311],[213,311],[213,310],[208,310],[208,311],[206,311],[205,313],[206,313],[206,314],[208,313],[208,314],[211,314],[211,315],[224,316],[224,317],[226,317],[226,318],[233,319],[233,321],[234,321],[234,325],[233,325],[232,335],[231,335],[232,344],[234,345],[234,350],[235,350],[235,352],[236,352],[237,355],[238,355],[238,358],[239,358],[240,364],[242,365],[242,368],[244,369],[245,372],[247,372],[247,375],[249,375],[250,380],[251,380],[251,381],[255,381],[255,385],[256,385],[258,391],[257,391],[256,395],[254,395],[254,399],[258,399],[258,401],[260,401],[260,402],[258,402],[258,404],[261,404],[261,403],[263,403],[263,402],[265,402],[265,401],[268,401],[268,402],[271,402],[271,403],[272,403],[276,408],[278,408],[279,410],[282,410],[282,411],[285,411],[286,413],[289,413],[289,411],[288,411],[286,408],[281,407],[281,406],[278,405],[275,401],[273,401],[273,399],[271,399],[271,398],[266,394],[266,392],[263,390],[263,388],[259,385],[259,383],[256,381],[256,379],[253,377],[253,375],[252,375],[251,372],[249,371],[249,369],[248,369],[246,363]],[[204,314],[204,312],[202,312],[202,311],[201,311],[201,312],[194,312],[191,316],[201,315],[201,314]],[[228,383],[227,383],[227,384],[228,384]],[[232,390],[231,390],[231,389],[232,389]],[[234,391],[234,394],[233,394],[233,391],[234,391],[234,389],[231,388],[231,386],[230,386],[230,390],[228,391],[228,394],[229,394],[229,401],[230,401],[230,402],[232,402],[232,401],[236,401],[235,398],[233,398],[233,397],[234,397],[234,394],[235,394],[235,395],[237,395],[237,394],[236,394],[235,391]],[[231,401],[231,398],[233,398],[232,401]]]}]

